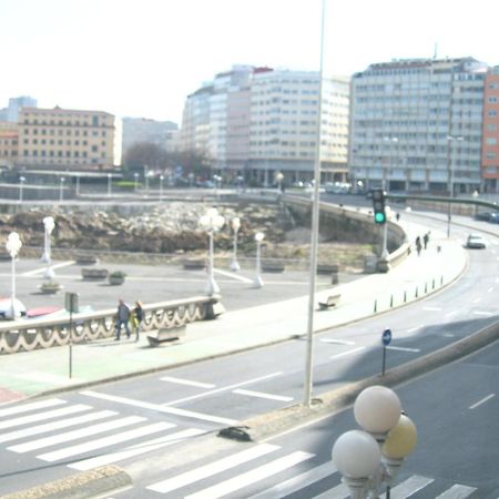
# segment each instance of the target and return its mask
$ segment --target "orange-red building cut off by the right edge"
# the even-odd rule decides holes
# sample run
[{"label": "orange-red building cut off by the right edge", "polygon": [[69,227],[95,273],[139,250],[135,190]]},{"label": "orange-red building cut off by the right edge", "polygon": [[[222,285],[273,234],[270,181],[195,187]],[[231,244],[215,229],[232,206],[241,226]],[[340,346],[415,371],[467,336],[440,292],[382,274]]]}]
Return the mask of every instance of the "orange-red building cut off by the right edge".
[{"label": "orange-red building cut off by the right edge", "polygon": [[485,192],[499,192],[499,67],[485,79],[481,175]]}]

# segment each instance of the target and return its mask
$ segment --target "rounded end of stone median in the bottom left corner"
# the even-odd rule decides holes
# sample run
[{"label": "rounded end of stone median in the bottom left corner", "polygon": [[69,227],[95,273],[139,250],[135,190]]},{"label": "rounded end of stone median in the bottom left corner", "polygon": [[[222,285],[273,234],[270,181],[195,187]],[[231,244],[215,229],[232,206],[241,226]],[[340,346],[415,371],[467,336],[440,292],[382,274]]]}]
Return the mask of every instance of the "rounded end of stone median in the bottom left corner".
[{"label": "rounded end of stone median in the bottom left corner", "polygon": [[1,496],[0,499],[90,499],[131,485],[130,476],[118,466],[102,466],[91,471]]}]

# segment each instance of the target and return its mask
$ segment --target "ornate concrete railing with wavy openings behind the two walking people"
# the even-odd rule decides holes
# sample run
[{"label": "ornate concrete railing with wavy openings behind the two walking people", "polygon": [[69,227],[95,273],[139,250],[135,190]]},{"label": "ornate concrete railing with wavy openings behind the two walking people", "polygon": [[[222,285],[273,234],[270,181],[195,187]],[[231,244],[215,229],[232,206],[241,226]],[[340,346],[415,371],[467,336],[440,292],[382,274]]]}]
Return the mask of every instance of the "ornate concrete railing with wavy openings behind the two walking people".
[{"label": "ornate concrete railing with wavy openings behind the two walking people", "polygon": [[[142,332],[185,325],[194,320],[215,318],[217,297],[160,302],[144,305]],[[68,345],[70,342],[86,343],[114,335],[116,309],[73,314],[70,327],[69,314],[60,318],[39,318],[9,322],[0,325],[0,354],[31,352]],[[70,334],[71,329],[71,334]]]}]

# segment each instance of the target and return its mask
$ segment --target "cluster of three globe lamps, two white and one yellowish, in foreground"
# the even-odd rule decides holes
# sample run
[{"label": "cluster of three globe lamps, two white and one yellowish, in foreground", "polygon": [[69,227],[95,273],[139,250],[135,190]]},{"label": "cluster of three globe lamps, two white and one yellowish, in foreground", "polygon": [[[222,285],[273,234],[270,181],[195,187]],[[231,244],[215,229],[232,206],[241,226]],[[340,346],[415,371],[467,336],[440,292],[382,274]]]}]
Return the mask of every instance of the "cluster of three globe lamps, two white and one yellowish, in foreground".
[{"label": "cluster of three globe lamps, two white and one yellowish, in foreground", "polygon": [[389,499],[391,482],[417,442],[416,426],[400,409],[397,395],[384,386],[366,388],[355,400],[363,430],[339,436],[332,452],[353,498],[377,498],[385,486]]}]

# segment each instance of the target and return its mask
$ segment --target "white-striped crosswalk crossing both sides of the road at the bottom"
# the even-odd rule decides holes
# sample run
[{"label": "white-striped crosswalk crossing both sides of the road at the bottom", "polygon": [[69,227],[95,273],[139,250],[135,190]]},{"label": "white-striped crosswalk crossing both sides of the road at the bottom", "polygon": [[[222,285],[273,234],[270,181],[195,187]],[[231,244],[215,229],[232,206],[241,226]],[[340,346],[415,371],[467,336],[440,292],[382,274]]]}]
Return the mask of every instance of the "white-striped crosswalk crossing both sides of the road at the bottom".
[{"label": "white-striped crosswalk crossing both sides of the road at the bottom", "polygon": [[[205,429],[177,428],[164,419],[123,415],[90,404],[63,398],[32,401],[0,408],[0,450],[34,457],[86,471],[124,464],[185,439]],[[129,461],[133,462],[133,461]],[[330,461],[305,450],[289,450],[271,442],[241,445],[220,459],[203,458],[177,473],[141,485],[140,497],[189,499],[346,499],[349,492]],[[428,490],[428,495],[426,495]],[[421,475],[404,476],[393,487],[390,498],[477,498],[479,491],[465,483],[439,483]],[[416,495],[416,496],[415,496]],[[384,497],[384,496],[381,496]]]}]

